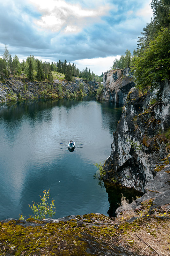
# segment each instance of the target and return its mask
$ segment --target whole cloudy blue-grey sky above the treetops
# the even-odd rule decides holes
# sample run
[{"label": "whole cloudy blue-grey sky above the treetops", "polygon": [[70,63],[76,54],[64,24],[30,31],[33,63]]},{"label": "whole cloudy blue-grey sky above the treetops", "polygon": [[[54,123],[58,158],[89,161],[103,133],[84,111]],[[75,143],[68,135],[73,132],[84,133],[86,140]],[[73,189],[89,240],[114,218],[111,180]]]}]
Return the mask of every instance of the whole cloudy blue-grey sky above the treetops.
[{"label": "whole cloudy blue-grey sky above the treetops", "polygon": [[151,0],[0,0],[0,55],[59,59],[96,75],[137,48]]}]

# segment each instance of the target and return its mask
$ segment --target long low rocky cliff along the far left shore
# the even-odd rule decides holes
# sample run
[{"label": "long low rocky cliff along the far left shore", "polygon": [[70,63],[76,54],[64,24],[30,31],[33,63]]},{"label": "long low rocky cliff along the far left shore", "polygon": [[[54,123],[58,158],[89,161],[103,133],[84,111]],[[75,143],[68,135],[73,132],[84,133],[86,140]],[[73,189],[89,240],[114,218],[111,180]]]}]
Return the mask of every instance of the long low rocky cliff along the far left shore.
[{"label": "long low rocky cliff along the far left shore", "polygon": [[[23,99],[58,99],[78,97],[96,93],[98,83],[90,81],[85,83],[82,79],[75,78],[74,82],[55,80],[54,83],[29,81],[23,78],[10,77],[0,83],[0,103]],[[83,93],[80,93],[83,88]],[[81,95],[80,95],[81,94]]]}]

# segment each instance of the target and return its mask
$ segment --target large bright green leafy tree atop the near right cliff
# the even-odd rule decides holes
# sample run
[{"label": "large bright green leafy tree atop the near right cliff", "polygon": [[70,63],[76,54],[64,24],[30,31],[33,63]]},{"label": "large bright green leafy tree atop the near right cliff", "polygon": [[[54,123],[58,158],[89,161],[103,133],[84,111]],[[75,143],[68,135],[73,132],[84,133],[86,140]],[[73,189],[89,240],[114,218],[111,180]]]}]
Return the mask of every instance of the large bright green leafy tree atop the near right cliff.
[{"label": "large bright green leafy tree atop the near right cliff", "polygon": [[170,29],[164,28],[149,43],[143,54],[134,57],[134,73],[139,88],[158,86],[158,81],[170,78]]}]

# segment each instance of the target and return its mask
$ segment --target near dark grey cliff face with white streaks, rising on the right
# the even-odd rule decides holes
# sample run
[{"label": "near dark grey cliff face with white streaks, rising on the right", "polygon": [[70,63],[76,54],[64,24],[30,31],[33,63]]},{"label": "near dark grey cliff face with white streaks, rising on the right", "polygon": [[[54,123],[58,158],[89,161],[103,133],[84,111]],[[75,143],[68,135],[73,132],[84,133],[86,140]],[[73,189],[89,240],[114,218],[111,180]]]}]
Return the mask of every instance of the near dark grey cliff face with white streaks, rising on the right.
[{"label": "near dark grey cliff face with white streaks, rising on the right", "polygon": [[[170,148],[170,81],[159,90],[131,88],[114,132],[104,180],[144,192],[156,171],[166,165]],[[166,135],[166,136],[165,136]]]}]

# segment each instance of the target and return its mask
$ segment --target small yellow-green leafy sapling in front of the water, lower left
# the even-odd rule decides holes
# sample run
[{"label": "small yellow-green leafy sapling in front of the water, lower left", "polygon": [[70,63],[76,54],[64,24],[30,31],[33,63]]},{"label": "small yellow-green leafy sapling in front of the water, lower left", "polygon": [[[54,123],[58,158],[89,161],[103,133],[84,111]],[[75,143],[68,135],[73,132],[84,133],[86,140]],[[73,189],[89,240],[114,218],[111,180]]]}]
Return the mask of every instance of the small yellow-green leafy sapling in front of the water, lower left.
[{"label": "small yellow-green leafy sapling in front of the water, lower left", "polygon": [[48,215],[49,217],[52,217],[52,215],[55,215],[55,206],[54,206],[54,201],[51,201],[51,204],[48,205],[47,199],[49,199],[49,189],[46,192],[46,190],[43,191],[44,195],[43,197],[40,196],[41,202],[40,203],[33,203],[33,205],[29,205],[31,207],[34,216],[34,219],[45,219],[46,216]]}]

